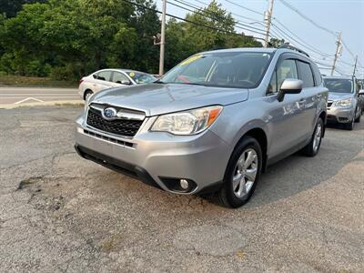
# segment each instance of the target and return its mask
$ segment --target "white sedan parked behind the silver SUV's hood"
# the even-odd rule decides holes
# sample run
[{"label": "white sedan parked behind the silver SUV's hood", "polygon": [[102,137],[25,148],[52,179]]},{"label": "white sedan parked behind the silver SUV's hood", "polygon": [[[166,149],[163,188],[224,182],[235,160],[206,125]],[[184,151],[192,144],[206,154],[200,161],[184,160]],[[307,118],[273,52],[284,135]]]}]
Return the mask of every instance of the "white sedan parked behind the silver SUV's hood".
[{"label": "white sedan parked behind the silver SUV's hood", "polygon": [[86,100],[88,96],[111,87],[134,86],[157,81],[157,77],[130,69],[102,69],[84,76],[79,83],[78,93]]}]

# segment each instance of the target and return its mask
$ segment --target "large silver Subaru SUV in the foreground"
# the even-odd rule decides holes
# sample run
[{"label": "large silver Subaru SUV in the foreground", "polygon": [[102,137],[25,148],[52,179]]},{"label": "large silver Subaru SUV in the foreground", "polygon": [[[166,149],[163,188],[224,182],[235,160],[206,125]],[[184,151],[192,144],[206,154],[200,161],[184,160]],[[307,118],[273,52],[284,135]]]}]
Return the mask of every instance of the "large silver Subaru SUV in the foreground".
[{"label": "large silver Subaru SUV in the foreground", "polygon": [[327,98],[298,50],[204,52],[153,84],[91,96],[76,119],[76,151],[168,192],[214,192],[240,207],[269,164],[318,153]]}]

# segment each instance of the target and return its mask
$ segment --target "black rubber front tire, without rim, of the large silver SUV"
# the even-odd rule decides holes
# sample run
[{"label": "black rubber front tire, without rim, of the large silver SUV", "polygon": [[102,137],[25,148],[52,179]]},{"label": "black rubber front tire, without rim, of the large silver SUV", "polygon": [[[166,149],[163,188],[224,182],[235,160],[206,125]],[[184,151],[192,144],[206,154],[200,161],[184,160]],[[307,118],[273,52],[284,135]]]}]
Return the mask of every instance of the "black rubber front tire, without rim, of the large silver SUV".
[{"label": "black rubber front tire, without rim, of the large silver SUV", "polygon": [[[243,151],[245,151],[248,148],[252,148],[257,152],[258,155],[258,172],[256,176],[256,180],[253,184],[253,186],[250,188],[250,191],[248,195],[245,197],[239,198],[234,194],[233,189],[233,183],[232,183],[232,177],[234,175],[234,170],[236,167],[236,164],[238,162],[238,158],[241,156]],[[262,169],[262,151],[261,147],[258,143],[258,141],[250,136],[244,137],[240,143],[238,143],[238,146],[234,149],[233,154],[231,155],[228,164],[227,164],[227,170],[225,172],[224,177],[224,190],[227,197],[227,203],[230,205],[230,207],[241,207],[245,203],[248,202],[249,198],[253,195],[255,188],[257,187],[258,180],[260,178],[261,169]]]}]

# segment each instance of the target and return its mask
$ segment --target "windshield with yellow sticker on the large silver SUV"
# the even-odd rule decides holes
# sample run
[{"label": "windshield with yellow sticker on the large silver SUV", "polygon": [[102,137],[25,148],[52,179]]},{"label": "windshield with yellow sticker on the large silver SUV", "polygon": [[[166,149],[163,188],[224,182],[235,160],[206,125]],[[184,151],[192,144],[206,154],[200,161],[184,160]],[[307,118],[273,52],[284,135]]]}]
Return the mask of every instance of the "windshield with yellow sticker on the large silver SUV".
[{"label": "windshield with yellow sticker on the large silver SUV", "polygon": [[258,52],[198,54],[172,68],[160,81],[166,84],[252,88],[259,85],[270,58],[271,54]]}]

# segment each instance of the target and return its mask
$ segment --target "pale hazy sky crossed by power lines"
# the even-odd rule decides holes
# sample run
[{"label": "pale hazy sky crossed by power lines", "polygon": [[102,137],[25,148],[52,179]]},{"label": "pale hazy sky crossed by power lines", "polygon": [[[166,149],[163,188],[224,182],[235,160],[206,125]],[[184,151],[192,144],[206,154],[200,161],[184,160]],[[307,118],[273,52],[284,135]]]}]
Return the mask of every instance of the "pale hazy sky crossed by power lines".
[{"label": "pale hazy sky crossed by power lines", "polygon": [[[348,45],[349,50],[354,55],[359,55],[359,62],[361,66],[364,66],[364,0],[286,0],[288,4],[297,8],[298,11],[306,15],[308,18],[312,19],[315,23],[323,26],[330,31],[339,32],[342,31],[342,38],[346,45]],[[156,0],[157,8],[162,9],[162,0]],[[167,3],[175,3],[174,0],[167,0]],[[190,3],[191,5],[203,6],[202,3],[209,4],[210,0],[183,0],[185,3]],[[263,22],[263,15],[248,11],[237,5],[233,5],[228,2],[234,2],[238,5],[243,5],[252,10],[263,13],[268,9],[268,0],[217,0],[227,11],[232,12],[237,15],[247,16],[258,22]],[[167,13],[172,15],[179,15],[184,17],[187,13],[177,6],[167,4]],[[253,20],[245,19],[233,15],[236,19],[241,21],[241,23],[247,24],[248,22],[253,22]],[[336,50],[336,37],[329,34],[327,31],[320,29],[319,27],[311,24],[300,15],[289,9],[280,0],[274,1],[273,16],[278,19],[280,23],[288,27],[288,29],[297,35],[301,40],[303,40],[308,46],[313,46],[320,52],[334,55]],[[278,25],[276,21],[273,24]],[[264,28],[258,23],[252,26],[258,28]],[[285,30],[281,25],[279,28]],[[243,30],[237,29],[238,32]],[[273,28],[273,31],[278,34],[278,30]],[[288,33],[287,30],[285,30]],[[248,31],[244,31],[245,34],[249,34]],[[252,33],[250,33],[252,34]],[[257,35],[257,34],[254,34]],[[288,35],[291,35],[288,33]],[[261,36],[261,35],[257,35]],[[292,35],[291,35],[292,36]],[[296,38],[296,37],[294,37]],[[296,38],[297,39],[297,38]],[[288,39],[286,39],[288,40]],[[288,40],[292,45],[298,45],[297,42]],[[299,41],[301,42],[302,41]],[[315,57],[315,60],[323,64],[332,65],[332,59],[330,57],[324,57],[317,52],[312,52],[308,48],[304,48],[302,45],[298,45],[302,49],[306,50],[308,54]],[[349,51],[344,47],[342,49],[342,56],[340,60],[354,64],[353,57],[349,54]],[[320,65],[319,65],[320,66]],[[345,65],[343,63],[338,63],[338,68],[341,72],[345,74],[352,74],[353,67]],[[321,70],[324,74],[329,74],[329,70]],[[364,77],[364,68],[360,68],[357,76]]]}]

